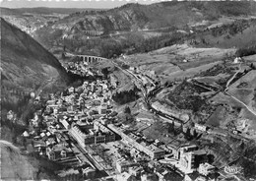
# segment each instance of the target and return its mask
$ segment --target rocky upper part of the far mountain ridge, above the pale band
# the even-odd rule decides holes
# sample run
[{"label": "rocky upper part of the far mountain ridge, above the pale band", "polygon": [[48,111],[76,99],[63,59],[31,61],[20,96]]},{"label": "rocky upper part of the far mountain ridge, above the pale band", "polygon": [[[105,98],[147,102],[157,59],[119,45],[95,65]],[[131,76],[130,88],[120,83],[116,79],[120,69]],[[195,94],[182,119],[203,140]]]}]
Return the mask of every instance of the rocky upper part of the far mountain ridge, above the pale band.
[{"label": "rocky upper part of the far mountain ridge, above the pale band", "polygon": [[[256,2],[160,2],[151,5],[126,4],[96,15],[78,13],[56,22],[81,30],[156,29],[183,27],[189,22],[217,19],[221,16],[256,15]],[[210,17],[211,16],[211,17]],[[77,19],[77,20],[76,20]],[[107,23],[105,23],[105,22]]]}]

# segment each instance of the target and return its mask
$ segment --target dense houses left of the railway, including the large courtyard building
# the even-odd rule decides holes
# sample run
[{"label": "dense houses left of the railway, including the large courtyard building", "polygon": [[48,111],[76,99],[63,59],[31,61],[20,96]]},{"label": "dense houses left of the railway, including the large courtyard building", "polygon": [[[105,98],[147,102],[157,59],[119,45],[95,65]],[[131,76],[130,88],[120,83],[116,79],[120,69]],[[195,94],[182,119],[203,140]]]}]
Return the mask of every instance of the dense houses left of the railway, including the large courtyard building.
[{"label": "dense houses left of the railway, including the large courtyard building", "polygon": [[[50,94],[43,110],[37,110],[23,136],[33,138],[33,146],[50,160],[74,156],[70,137],[82,147],[115,141],[105,124],[111,120],[111,91],[107,81],[84,82],[60,95]],[[8,118],[13,118],[9,112]]]}]

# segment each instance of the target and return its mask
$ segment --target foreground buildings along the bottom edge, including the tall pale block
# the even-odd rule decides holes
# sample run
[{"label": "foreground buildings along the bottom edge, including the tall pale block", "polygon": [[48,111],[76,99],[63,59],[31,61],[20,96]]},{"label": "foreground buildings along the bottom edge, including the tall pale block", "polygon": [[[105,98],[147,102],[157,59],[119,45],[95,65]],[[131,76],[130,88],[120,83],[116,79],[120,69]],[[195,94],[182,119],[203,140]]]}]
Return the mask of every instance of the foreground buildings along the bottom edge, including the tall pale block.
[{"label": "foreground buildings along the bottom edge, including the tall pale block", "polygon": [[[134,146],[137,148],[136,146]],[[216,167],[208,163],[207,153],[195,145],[172,148],[169,154],[145,163],[120,158],[116,161],[116,170],[122,180],[147,180],[146,175],[155,175],[160,181],[214,181],[219,174]],[[162,159],[160,159],[162,158]],[[145,169],[147,167],[147,170]],[[151,170],[151,171],[149,171]],[[174,172],[173,172],[174,170]]]}]

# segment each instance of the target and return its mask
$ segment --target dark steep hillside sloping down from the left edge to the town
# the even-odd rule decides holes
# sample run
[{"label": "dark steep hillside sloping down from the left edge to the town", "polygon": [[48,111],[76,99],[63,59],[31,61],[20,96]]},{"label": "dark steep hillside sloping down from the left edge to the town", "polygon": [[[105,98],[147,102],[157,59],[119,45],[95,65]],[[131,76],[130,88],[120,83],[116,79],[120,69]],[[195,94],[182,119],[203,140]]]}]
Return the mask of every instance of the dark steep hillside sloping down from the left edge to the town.
[{"label": "dark steep hillside sloping down from the left edge to the town", "polygon": [[70,81],[60,62],[29,34],[1,20],[2,108],[30,92],[64,88]]}]

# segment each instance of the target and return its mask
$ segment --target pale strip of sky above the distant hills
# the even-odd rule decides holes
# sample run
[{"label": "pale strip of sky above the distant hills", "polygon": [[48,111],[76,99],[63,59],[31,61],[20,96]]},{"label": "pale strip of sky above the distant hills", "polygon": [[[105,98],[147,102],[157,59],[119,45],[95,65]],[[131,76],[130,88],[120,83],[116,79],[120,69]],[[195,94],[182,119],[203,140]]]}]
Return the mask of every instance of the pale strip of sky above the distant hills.
[{"label": "pale strip of sky above the distant hills", "polygon": [[161,0],[0,0],[6,8],[99,8],[110,9],[127,3],[152,4]]}]

